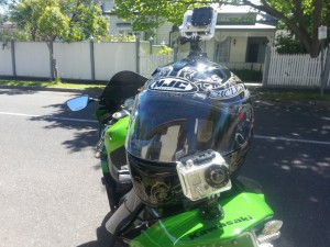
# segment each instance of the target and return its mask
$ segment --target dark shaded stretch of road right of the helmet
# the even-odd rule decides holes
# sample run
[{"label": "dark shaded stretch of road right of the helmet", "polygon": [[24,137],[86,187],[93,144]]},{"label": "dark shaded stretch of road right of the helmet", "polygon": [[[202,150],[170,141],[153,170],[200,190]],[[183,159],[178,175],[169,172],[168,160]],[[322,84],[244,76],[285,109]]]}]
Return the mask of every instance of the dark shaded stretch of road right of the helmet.
[{"label": "dark shaded stretch of road right of the helmet", "polygon": [[261,101],[254,109],[256,137],[242,173],[264,187],[284,221],[277,246],[330,246],[330,112]]}]

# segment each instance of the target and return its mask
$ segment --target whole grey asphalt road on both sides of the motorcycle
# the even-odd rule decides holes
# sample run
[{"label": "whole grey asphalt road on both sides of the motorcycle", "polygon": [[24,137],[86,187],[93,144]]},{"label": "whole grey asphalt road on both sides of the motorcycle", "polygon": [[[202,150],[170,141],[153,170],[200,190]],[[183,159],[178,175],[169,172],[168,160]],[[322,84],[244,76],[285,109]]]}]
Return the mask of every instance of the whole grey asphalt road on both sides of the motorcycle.
[{"label": "whole grey asphalt road on both sides of the motorcycle", "polygon": [[[77,93],[0,88],[0,246],[107,246],[92,106]],[[255,138],[242,169],[284,221],[278,247],[330,246],[330,111],[255,99]]]}]

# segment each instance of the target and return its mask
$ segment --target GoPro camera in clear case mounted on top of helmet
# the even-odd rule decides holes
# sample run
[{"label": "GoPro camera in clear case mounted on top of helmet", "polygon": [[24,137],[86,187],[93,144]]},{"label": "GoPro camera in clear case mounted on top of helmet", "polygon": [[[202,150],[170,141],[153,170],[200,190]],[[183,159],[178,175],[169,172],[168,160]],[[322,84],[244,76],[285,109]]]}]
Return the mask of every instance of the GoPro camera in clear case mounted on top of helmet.
[{"label": "GoPro camera in clear case mounted on top of helmet", "polygon": [[182,35],[191,38],[199,36],[201,40],[210,40],[215,36],[217,11],[211,7],[195,8],[184,15]]}]

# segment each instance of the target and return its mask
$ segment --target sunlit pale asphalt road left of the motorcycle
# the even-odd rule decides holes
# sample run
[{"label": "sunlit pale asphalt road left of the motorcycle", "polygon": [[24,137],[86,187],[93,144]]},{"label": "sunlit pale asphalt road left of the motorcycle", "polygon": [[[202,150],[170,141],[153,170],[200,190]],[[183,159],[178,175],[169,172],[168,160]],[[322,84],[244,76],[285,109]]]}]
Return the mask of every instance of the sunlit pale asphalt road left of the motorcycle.
[{"label": "sunlit pale asphalt road left of the motorcycle", "polygon": [[0,89],[1,247],[105,246],[97,123],[66,110],[73,97]]}]

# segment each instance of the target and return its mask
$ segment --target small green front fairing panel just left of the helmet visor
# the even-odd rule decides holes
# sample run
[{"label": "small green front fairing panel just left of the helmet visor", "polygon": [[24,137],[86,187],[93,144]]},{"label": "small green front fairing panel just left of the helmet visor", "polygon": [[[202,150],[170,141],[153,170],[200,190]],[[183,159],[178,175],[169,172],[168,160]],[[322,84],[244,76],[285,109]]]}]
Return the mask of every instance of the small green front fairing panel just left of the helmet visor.
[{"label": "small green front fairing panel just left of the helmet visor", "polygon": [[110,155],[111,151],[124,145],[128,134],[129,121],[129,116],[122,117],[106,131],[105,144],[107,155]]}]

